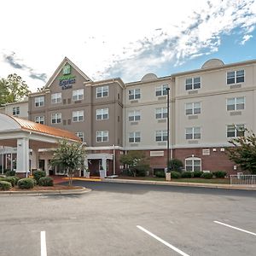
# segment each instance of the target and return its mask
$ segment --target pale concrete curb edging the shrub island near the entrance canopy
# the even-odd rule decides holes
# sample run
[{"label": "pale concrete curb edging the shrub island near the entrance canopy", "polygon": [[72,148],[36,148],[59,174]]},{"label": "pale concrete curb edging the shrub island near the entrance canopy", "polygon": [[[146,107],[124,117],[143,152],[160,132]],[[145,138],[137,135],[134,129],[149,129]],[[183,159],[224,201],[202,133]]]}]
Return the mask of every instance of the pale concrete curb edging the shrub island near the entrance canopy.
[{"label": "pale concrete curb edging the shrub island near the entrance canopy", "polygon": [[38,190],[38,191],[0,191],[0,195],[83,195],[91,189],[61,189],[61,190]]}]

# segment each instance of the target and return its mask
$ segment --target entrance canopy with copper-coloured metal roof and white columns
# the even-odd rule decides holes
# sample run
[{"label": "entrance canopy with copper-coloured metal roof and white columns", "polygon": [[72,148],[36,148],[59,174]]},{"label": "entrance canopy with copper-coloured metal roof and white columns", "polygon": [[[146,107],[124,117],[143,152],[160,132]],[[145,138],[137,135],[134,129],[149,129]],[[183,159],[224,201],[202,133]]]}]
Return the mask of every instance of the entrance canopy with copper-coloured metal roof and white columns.
[{"label": "entrance canopy with copper-coloured metal roof and white columns", "polygon": [[[0,113],[0,173],[3,172],[3,154],[11,152],[16,154],[16,173],[25,177],[29,171],[30,155],[32,154],[31,169],[38,169],[39,148],[55,148],[63,138],[70,142],[80,142],[80,138],[70,131]],[[12,164],[12,158],[10,162]]]}]

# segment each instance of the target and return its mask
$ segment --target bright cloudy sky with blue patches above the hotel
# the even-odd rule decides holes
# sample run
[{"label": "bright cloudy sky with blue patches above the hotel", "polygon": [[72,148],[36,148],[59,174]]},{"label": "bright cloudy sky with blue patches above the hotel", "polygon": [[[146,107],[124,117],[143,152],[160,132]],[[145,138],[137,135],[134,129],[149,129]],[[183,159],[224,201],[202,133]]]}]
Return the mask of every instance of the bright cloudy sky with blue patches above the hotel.
[{"label": "bright cloudy sky with blue patches above the hotel", "polygon": [[44,86],[67,56],[92,80],[138,81],[256,59],[256,0],[9,0],[0,78]]}]

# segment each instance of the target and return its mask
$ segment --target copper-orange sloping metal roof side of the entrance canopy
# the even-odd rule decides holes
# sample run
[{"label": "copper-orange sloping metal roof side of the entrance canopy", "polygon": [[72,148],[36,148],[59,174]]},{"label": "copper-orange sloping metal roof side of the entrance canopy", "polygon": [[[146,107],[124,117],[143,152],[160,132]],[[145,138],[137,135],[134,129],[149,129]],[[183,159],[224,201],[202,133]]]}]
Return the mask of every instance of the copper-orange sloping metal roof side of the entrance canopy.
[{"label": "copper-orange sloping metal roof side of the entrance canopy", "polygon": [[15,119],[15,121],[21,126],[22,130],[36,131],[39,133],[44,133],[44,134],[52,135],[55,137],[63,137],[63,138],[67,138],[67,139],[71,139],[79,142],[81,141],[79,137],[75,136],[70,131],[57,129],[55,127],[51,127],[48,125],[38,124],[26,119],[19,119],[15,116],[10,116],[10,117],[12,119]]}]

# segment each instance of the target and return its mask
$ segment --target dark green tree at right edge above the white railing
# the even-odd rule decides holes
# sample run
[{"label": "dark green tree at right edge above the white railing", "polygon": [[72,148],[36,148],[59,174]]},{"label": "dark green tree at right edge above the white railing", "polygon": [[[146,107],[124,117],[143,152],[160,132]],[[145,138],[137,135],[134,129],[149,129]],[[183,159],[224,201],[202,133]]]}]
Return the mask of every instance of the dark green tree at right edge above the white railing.
[{"label": "dark green tree at right edge above the white railing", "polygon": [[253,131],[245,129],[243,136],[232,138],[229,143],[232,147],[226,148],[226,152],[230,160],[242,170],[256,174],[256,136]]}]

